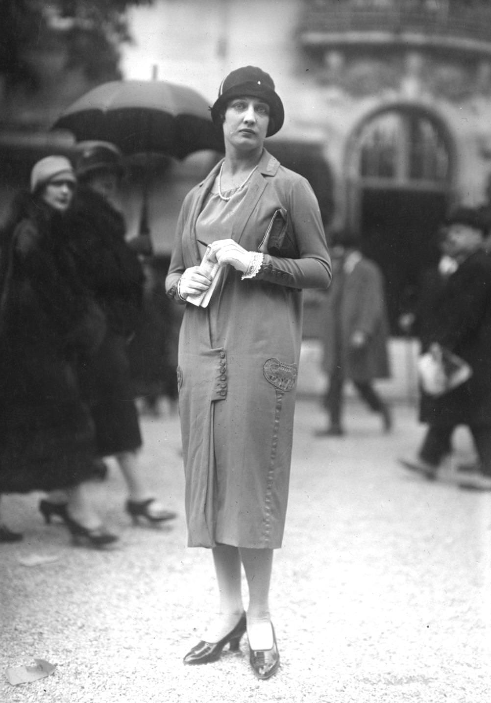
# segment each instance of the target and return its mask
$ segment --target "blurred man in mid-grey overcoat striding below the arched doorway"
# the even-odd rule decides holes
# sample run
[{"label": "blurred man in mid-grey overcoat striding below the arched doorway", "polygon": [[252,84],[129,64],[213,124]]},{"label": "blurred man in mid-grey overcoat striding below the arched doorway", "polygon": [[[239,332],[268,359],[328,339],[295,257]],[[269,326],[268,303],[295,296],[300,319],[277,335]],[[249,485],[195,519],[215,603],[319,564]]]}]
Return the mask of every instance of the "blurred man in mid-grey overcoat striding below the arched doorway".
[{"label": "blurred man in mid-grey overcoat striding below the arched doorway", "polygon": [[387,404],[373,387],[388,378],[388,318],[384,280],[377,264],[362,256],[358,240],[348,232],[332,235],[333,277],[326,296],[323,364],[329,376],[325,406],[329,426],[317,437],[340,436],[343,385],[353,382],[361,399],[379,413],[384,430],[392,421]]}]

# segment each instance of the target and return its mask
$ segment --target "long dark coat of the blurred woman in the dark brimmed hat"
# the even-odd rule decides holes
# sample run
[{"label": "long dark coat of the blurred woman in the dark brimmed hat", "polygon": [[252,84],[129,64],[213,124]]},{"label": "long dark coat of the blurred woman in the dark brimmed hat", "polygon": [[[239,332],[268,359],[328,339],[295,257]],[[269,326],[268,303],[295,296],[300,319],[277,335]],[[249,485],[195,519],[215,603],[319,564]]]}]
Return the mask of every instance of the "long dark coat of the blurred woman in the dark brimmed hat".
[{"label": "long dark coat of the blurred woman in the dark brimmed hat", "polygon": [[96,425],[100,456],[142,444],[127,345],[138,324],[143,270],[126,244],[122,214],[90,188],[79,188],[67,214],[77,276],[103,310],[107,330],[96,354],[79,368]]}]

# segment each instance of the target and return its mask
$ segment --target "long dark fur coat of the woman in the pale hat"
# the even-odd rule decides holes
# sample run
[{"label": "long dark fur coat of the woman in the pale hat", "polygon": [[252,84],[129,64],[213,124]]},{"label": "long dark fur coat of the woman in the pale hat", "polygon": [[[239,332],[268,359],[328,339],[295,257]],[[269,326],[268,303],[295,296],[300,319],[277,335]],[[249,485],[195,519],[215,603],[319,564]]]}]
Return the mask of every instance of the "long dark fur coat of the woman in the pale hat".
[{"label": "long dark fur coat of the woman in the pale hat", "polygon": [[1,243],[0,493],[63,489],[92,472],[93,423],[75,368],[100,337],[86,328],[91,301],[63,218],[28,194],[13,209]]}]

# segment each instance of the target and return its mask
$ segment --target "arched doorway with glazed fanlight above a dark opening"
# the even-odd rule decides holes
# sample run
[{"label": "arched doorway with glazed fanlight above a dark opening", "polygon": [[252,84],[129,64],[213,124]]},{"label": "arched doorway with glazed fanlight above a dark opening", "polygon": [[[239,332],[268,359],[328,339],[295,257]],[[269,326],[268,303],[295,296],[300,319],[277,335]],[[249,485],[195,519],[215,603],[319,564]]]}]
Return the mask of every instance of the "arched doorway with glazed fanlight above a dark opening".
[{"label": "arched doorway with glazed fanlight above a dark opening", "polygon": [[424,108],[372,113],[347,150],[346,221],[386,281],[393,335],[412,308],[421,272],[438,260],[438,231],[452,191],[454,146],[445,124]]}]

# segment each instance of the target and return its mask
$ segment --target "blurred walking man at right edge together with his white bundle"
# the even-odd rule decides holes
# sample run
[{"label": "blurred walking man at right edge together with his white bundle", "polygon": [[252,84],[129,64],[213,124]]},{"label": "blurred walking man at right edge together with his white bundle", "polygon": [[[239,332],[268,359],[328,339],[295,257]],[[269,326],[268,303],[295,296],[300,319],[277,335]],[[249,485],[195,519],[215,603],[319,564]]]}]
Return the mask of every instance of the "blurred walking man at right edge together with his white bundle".
[{"label": "blurred walking man at right edge together with his white bundle", "polygon": [[[426,271],[414,314],[402,325],[421,342],[419,420],[427,426],[402,465],[426,479],[448,477],[452,434],[471,433],[477,462],[458,465],[462,488],[491,490],[491,209],[457,207],[440,237],[438,267]],[[424,363],[422,363],[424,362]]]}]

